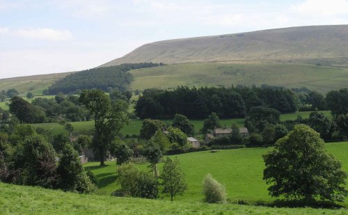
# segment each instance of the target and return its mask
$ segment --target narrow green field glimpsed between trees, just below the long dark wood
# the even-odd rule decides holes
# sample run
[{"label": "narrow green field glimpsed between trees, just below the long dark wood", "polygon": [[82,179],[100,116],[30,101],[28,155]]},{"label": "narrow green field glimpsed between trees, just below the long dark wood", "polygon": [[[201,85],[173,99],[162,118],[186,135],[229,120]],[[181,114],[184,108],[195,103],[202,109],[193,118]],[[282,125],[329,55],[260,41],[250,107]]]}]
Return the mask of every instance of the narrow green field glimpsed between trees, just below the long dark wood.
[{"label": "narrow green field glimpsed between trees, just below the long dark wood", "polygon": [[[330,111],[322,111],[325,116],[331,116]],[[301,116],[302,118],[308,118],[310,111],[306,112],[298,112],[298,113],[286,113],[280,115],[280,120],[295,120],[297,116]],[[166,125],[170,126],[172,124],[172,120],[162,120]],[[199,130],[203,128],[203,120],[191,120],[193,125],[195,126],[196,132],[199,133]],[[223,119],[220,121],[221,126],[230,127],[232,122],[235,122],[238,127],[244,127],[244,118],[235,118],[235,119]],[[141,129],[141,125],[143,120],[130,120],[129,125],[126,125],[121,133],[123,135],[139,135],[139,131]],[[74,127],[74,132],[81,132],[83,130],[93,129],[93,121],[84,121],[84,122],[70,122],[70,124]],[[65,133],[68,134],[68,131],[65,129],[63,125],[59,125],[58,123],[40,123],[33,124],[34,127],[42,127],[44,129],[51,129],[54,134]]]}]

